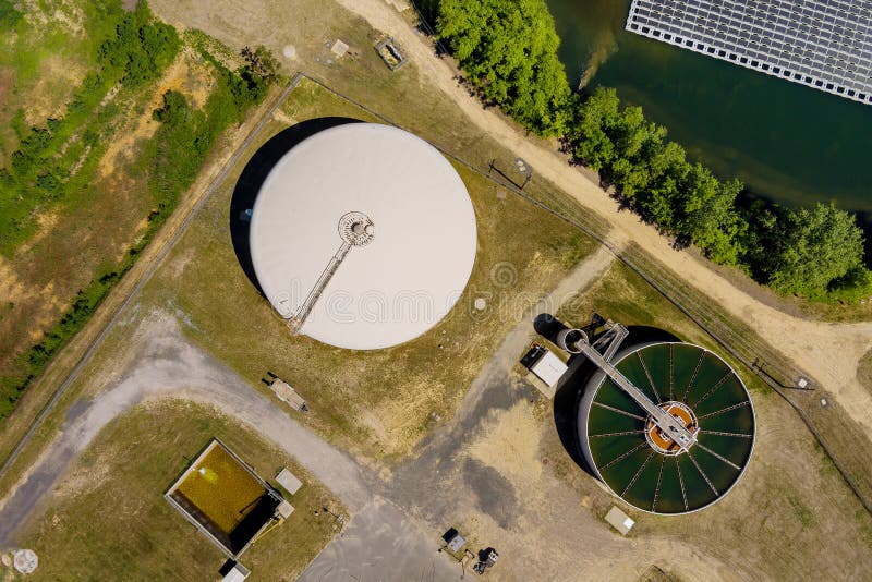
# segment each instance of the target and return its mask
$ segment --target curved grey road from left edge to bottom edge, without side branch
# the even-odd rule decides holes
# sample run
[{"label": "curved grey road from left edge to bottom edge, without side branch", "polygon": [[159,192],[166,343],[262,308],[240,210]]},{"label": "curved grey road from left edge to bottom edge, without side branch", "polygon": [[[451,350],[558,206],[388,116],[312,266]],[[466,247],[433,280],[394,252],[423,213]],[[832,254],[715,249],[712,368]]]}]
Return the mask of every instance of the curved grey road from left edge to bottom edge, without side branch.
[{"label": "curved grey road from left edge to bottom edge, without side branch", "polygon": [[437,553],[438,535],[423,533],[396,506],[374,495],[373,475],[290,419],[281,405],[185,340],[166,315],[146,320],[143,354],[116,386],[73,404],[58,440],[0,507],[0,548],[38,517],[40,501],[100,429],[148,399],[180,398],[217,407],[294,457],[346,504],[352,519],[306,571],[304,580],[452,580],[460,566]]}]

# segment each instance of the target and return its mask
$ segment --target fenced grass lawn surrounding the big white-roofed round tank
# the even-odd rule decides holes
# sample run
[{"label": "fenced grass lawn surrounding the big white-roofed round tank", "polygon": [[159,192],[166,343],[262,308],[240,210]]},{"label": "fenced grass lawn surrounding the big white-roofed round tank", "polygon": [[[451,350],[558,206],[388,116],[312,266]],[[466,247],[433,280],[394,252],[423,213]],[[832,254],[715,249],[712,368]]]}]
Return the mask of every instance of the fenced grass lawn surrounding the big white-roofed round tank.
[{"label": "fenced grass lawn surrounding the big white-roofed round tank", "polygon": [[[300,121],[329,116],[372,119],[303,81],[259,142]],[[461,167],[475,208],[479,248],[469,286],[448,317],[419,339],[373,352],[292,337],[243,274],[231,245],[231,195],[256,147],[203,208],[147,286],[145,301],[182,312],[193,339],[267,393],[259,381],[267,371],[288,380],[312,409],[300,419],[355,452],[398,459],[413,451],[453,414],[524,307],[593,248],[564,221]],[[477,298],[488,302],[484,312],[473,308]]]}]

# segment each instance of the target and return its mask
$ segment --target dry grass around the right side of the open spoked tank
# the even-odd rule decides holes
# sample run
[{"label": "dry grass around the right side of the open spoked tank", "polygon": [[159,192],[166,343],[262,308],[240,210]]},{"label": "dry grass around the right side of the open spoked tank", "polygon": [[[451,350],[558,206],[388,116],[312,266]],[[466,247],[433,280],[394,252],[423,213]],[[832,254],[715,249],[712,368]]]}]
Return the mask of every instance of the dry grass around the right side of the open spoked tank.
[{"label": "dry grass around the right side of the open spoked tank", "polygon": [[[566,303],[558,317],[582,325],[592,312],[626,325],[665,329],[712,349],[746,381],[756,414],[750,464],[723,500],[681,517],[650,518],[630,509],[639,518],[633,535],[692,538],[701,550],[727,562],[741,556],[760,565],[763,579],[791,578],[798,572],[826,578],[872,565],[872,518],[784,400],[621,263],[613,264],[588,291]],[[550,446],[548,456],[558,459],[552,470],[592,495],[604,514],[614,499],[591,490],[589,477],[561,453],[556,439]]]}]

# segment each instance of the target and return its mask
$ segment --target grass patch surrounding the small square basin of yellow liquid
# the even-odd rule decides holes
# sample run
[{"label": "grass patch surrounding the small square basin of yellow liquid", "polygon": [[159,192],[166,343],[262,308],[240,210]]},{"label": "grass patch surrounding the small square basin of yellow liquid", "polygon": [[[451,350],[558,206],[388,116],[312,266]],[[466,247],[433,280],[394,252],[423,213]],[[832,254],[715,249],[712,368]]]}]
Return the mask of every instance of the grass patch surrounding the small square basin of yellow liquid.
[{"label": "grass patch surrounding the small square basin of yellow liquid", "polygon": [[217,437],[275,485],[282,466],[303,482],[295,511],[243,563],[257,580],[294,580],[338,533],[341,504],[291,458],[213,409],[178,400],[140,404],[104,428],[20,535],[39,556],[39,580],[210,580],[225,555],[164,493]]}]

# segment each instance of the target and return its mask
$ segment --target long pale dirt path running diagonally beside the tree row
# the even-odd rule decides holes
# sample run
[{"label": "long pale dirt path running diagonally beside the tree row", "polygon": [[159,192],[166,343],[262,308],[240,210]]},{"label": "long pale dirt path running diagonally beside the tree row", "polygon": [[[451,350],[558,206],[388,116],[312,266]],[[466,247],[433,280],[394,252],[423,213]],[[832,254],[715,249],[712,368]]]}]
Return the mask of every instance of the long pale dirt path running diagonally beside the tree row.
[{"label": "long pale dirt path running diagonally beside the tree row", "polygon": [[823,383],[852,420],[872,434],[872,396],[857,380],[858,362],[872,348],[872,323],[808,322],[751,298],[714,272],[705,262],[675,251],[668,240],[654,228],[643,225],[637,216],[619,211],[615,201],[571,168],[556,147],[533,144],[498,113],[484,110],[465,88],[458,85],[453,78],[455,71],[435,56],[429,40],[409,26],[384,0],[337,1],[373,27],[396,38],[410,53],[426,82],[450,98],[482,131],[530,162],[538,175],[571,193],[585,207],[607,219],[614,227],[610,232],[613,241],[639,243],[656,259],[681,274],[688,284],[705,292],[734,316],[751,322],[798,368]]}]

